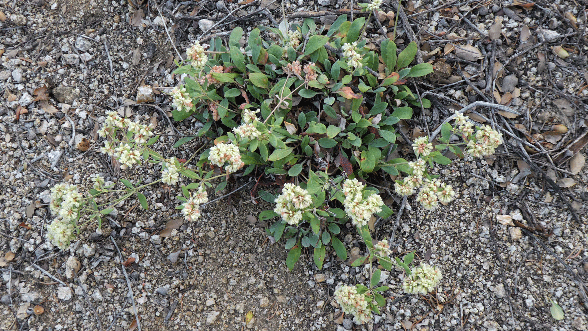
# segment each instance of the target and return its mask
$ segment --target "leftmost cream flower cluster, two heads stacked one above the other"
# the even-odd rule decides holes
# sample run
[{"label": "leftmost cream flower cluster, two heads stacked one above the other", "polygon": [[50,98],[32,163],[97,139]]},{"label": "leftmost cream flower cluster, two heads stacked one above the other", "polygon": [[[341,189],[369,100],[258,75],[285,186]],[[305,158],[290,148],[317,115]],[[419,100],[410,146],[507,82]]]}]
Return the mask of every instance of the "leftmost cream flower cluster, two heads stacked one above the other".
[{"label": "leftmost cream flower cluster, two heads stacked one above the other", "polygon": [[82,200],[82,194],[75,185],[56,184],[51,188],[49,209],[57,217],[47,226],[46,237],[55,246],[64,249],[75,239],[74,223]]}]

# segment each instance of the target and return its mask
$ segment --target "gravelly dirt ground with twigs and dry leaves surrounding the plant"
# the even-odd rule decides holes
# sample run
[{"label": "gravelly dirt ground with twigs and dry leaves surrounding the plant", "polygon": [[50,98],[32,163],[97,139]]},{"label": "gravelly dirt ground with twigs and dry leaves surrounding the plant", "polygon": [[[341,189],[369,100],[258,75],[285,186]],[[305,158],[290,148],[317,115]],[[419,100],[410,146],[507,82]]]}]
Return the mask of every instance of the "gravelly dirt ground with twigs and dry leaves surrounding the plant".
[{"label": "gravelly dirt ground with twigs and dry leaves surrounding the plant", "polygon": [[[396,11],[392,2],[382,9]],[[284,2],[289,21],[315,11],[318,25],[349,6]],[[433,131],[454,109],[478,100],[523,115],[507,118],[476,108],[510,134],[503,133],[505,145],[495,158],[455,158],[433,169],[457,191],[453,203],[427,211],[409,198],[397,217],[402,198],[387,197],[395,214],[379,220],[372,237],[392,235],[396,254],[415,250],[444,277],[432,296],[404,296],[401,270],[383,272],[390,290],[382,315],[351,329],[587,330],[586,5],[402,6],[406,15],[398,21],[397,44],[416,39],[419,57],[436,68],[415,82],[433,107],[417,110],[406,134]],[[206,42],[202,27],[230,17],[210,31],[226,37],[237,25],[271,25],[281,20],[279,2],[14,0],[4,1],[0,12],[0,329],[343,329],[333,291],[340,284],[365,283],[368,269],[349,267],[330,253],[317,270],[305,251],[289,272],[283,243],[273,243],[265,233],[268,224],[257,220],[273,206],[259,198],[253,203],[248,188],[209,204],[201,220],[183,223],[166,237],[160,236],[166,223],[180,219],[174,209],[178,188],[162,186],[143,191],[150,210],[128,198],[101,229],[93,221],[83,227],[67,250],[44,236],[51,221],[48,188],[55,183],[85,191],[96,174],[116,188],[123,188],[121,178],[158,179],[150,164],[121,171],[98,152],[95,133],[105,111],[157,123],[158,132],[169,135],[153,149],[166,157],[189,158],[198,150],[198,139],[173,148],[173,134],[192,134],[201,124],[169,121],[169,98],[156,89],[152,102],[136,104],[139,87],[175,86],[174,47],[182,53],[196,38]],[[389,34],[389,24],[373,21],[366,38],[379,45],[386,38],[380,26]],[[475,58],[458,56],[466,44],[479,52]],[[42,85],[50,100],[32,101]],[[88,138],[92,148],[79,151],[72,135]],[[526,155],[525,144],[544,152]],[[211,199],[241,184],[216,196],[211,191]],[[348,250],[364,253],[353,229],[344,229],[340,238]],[[79,269],[69,277],[68,264],[76,262]],[[562,320],[553,319],[550,300],[562,307]]]}]

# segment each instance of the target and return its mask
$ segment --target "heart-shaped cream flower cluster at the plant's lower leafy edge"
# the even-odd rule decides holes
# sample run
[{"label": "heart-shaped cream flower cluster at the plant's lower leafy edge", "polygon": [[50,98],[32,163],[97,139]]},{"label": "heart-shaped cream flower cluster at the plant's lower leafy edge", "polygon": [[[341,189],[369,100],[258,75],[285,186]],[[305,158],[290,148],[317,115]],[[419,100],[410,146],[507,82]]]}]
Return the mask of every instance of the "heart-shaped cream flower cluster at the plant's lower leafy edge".
[{"label": "heart-shaped cream flower cluster at the plant's lower leafy edge", "polygon": [[365,186],[356,179],[348,179],[343,183],[343,194],[345,194],[345,212],[351,218],[354,226],[365,226],[373,213],[382,211],[382,198],[373,193],[365,200],[363,199],[363,188]]}]

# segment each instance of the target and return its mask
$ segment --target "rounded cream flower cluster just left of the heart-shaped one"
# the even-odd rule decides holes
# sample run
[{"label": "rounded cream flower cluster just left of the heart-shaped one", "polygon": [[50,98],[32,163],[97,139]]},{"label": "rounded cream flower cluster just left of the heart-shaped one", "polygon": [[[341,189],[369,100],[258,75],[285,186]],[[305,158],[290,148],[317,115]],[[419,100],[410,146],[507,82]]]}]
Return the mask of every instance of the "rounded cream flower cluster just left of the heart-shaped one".
[{"label": "rounded cream flower cluster just left of the heart-shaped one", "polygon": [[276,207],[273,211],[280,214],[282,220],[290,225],[298,225],[302,220],[302,212],[310,206],[312,198],[304,188],[286,183],[282,188],[282,194],[274,202]]}]

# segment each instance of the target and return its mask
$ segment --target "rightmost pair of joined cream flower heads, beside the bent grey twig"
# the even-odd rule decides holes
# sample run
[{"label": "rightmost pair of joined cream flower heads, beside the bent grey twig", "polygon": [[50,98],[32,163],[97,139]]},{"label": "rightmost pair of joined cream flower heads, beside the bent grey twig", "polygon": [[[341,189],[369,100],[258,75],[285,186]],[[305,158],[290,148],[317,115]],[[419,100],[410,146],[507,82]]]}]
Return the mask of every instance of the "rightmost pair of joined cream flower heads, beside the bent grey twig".
[{"label": "rightmost pair of joined cream flower heads, beside the bent grey twig", "polygon": [[482,125],[474,134],[474,124],[469,117],[461,112],[455,112],[455,133],[462,134],[467,142],[466,153],[473,157],[483,157],[494,154],[496,147],[502,144],[502,133],[494,130],[490,125]]}]

